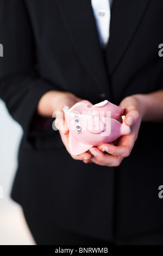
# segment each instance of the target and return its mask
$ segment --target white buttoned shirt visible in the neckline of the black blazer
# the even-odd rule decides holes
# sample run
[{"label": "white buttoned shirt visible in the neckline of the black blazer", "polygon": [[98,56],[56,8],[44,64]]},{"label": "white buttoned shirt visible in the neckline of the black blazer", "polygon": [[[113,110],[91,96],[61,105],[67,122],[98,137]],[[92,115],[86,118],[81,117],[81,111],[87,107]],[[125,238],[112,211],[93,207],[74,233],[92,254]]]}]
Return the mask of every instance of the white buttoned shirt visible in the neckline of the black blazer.
[{"label": "white buttoned shirt visible in the neckline of the black blazer", "polygon": [[91,0],[99,41],[102,46],[106,46],[109,40],[110,7],[112,1],[113,0]]}]

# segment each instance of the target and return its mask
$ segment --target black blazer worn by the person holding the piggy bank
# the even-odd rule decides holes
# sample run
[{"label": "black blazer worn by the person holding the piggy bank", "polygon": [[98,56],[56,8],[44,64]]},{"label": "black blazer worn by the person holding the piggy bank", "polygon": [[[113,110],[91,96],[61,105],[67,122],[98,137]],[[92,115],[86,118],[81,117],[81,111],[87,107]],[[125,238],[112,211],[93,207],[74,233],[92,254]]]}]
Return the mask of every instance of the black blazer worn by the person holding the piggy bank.
[{"label": "black blazer worn by the person holding the piggy bank", "polygon": [[103,56],[91,1],[0,0],[0,96],[24,130],[12,198],[28,215],[100,239],[163,229],[162,124],[143,123],[131,155],[109,168],[73,160],[35,114],[49,90],[119,104],[161,89],[162,11],[162,0],[114,0]]}]

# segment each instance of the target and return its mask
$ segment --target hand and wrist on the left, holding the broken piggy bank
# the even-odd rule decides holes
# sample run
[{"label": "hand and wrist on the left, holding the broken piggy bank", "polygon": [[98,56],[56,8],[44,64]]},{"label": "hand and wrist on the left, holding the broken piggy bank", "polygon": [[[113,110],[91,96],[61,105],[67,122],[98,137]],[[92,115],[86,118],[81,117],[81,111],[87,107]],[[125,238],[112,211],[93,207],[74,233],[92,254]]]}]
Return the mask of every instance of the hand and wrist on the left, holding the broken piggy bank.
[{"label": "hand and wrist on the left, holding the broken piggy bank", "polygon": [[64,106],[72,107],[75,103],[81,101],[79,97],[72,93],[60,92],[60,91],[50,91],[44,94],[37,106],[37,113],[43,117],[52,117],[55,115],[55,127],[59,130],[61,140],[64,143],[68,153],[72,156],[74,160],[87,161],[91,159],[91,154],[83,153],[78,156],[74,156],[70,153],[68,145],[69,131],[65,123],[65,115],[62,110]]}]

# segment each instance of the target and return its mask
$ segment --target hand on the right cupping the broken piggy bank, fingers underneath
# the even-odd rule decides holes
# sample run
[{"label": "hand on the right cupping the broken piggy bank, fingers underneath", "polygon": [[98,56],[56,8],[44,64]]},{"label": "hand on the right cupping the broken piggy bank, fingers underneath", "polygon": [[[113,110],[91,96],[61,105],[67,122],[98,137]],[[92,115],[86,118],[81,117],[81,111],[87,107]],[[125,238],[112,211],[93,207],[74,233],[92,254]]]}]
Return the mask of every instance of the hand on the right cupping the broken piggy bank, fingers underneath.
[{"label": "hand on the right cupping the broken piggy bank, fingers underneath", "polygon": [[139,134],[143,114],[139,97],[136,96],[126,97],[120,103],[120,106],[124,107],[124,115],[126,115],[124,122],[131,127],[130,135],[121,136],[112,144],[105,143],[98,148],[91,148],[91,160],[84,161],[84,163],[94,162],[101,166],[117,167],[120,166],[124,157],[130,155]]}]

